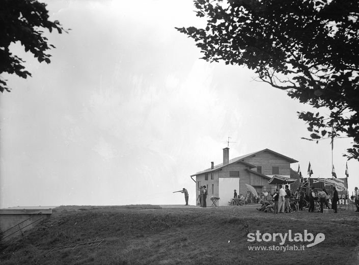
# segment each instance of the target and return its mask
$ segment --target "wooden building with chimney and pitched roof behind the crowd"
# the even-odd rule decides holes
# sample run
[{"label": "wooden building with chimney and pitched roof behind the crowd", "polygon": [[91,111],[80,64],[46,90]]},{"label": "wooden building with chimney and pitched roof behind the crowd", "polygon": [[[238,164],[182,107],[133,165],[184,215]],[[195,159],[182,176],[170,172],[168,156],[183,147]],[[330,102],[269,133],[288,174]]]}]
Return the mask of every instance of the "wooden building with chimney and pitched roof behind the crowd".
[{"label": "wooden building with chimney and pitched roof behind the crowd", "polygon": [[[273,192],[276,188],[268,184],[268,180],[273,175],[290,177],[290,164],[298,161],[264,149],[254,153],[242,155],[229,160],[229,148],[223,149],[223,163],[214,166],[211,162],[209,169],[191,175],[196,181],[196,198],[199,196],[201,186],[206,186],[207,205],[211,205],[211,197],[219,197],[219,205],[228,205],[233,198],[233,191],[237,194],[247,195],[245,183],[253,186],[257,193],[263,191]],[[196,177],[196,180],[193,178]]]}]

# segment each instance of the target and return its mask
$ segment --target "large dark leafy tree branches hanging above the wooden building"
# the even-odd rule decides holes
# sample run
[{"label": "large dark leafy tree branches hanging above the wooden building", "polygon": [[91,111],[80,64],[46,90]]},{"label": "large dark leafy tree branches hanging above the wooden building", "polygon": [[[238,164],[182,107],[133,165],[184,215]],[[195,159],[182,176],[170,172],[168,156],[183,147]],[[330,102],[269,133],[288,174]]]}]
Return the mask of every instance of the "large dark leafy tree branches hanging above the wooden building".
[{"label": "large dark leafy tree branches hanging above the wooden building", "polygon": [[195,1],[204,29],[176,28],[209,62],[244,65],[259,80],[327,116],[300,112],[308,140],[350,137],[359,160],[359,3],[357,0]]}]

